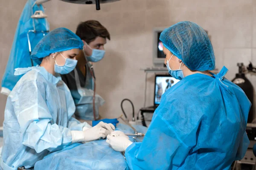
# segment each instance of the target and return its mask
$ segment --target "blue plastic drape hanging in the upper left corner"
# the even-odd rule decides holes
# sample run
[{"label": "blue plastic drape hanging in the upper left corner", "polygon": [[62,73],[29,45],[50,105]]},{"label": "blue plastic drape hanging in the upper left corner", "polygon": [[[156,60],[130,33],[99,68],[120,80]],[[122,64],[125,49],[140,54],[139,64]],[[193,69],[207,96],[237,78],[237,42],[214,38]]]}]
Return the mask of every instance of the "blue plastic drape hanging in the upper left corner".
[{"label": "blue plastic drape hanging in the upper left corner", "polygon": [[[31,18],[31,14],[34,14],[35,11],[44,11],[44,7],[42,5],[35,5],[32,8],[32,5],[35,3],[35,1],[36,0],[27,0],[26,5],[24,6],[23,11],[20,15],[20,19],[17,23],[15,36],[12,42],[12,49],[2,79],[2,94],[9,95],[9,93],[12,91],[12,89],[22,76],[14,75],[15,68],[27,68],[32,66],[32,61],[30,59],[29,53],[28,37],[31,44],[31,50],[33,50],[35,48],[35,45],[37,45],[41,38],[44,37],[44,34],[47,34],[47,31],[49,31],[49,23],[46,19],[42,18],[33,20]],[[36,30],[35,33],[29,32],[29,30],[31,31],[34,29]],[[8,56],[3,55],[3,57]],[[36,62],[33,61],[33,65],[36,65],[35,63]]]}]

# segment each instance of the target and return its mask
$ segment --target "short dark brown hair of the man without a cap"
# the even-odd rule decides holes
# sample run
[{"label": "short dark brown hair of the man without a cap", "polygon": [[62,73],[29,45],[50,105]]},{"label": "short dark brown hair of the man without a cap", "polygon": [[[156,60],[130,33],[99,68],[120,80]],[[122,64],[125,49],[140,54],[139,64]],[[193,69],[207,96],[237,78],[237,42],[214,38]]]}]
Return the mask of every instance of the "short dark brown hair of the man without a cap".
[{"label": "short dark brown hair of the man without a cap", "polygon": [[89,44],[96,37],[108,38],[110,40],[110,34],[108,30],[96,20],[88,20],[79,23],[76,28],[76,35]]}]

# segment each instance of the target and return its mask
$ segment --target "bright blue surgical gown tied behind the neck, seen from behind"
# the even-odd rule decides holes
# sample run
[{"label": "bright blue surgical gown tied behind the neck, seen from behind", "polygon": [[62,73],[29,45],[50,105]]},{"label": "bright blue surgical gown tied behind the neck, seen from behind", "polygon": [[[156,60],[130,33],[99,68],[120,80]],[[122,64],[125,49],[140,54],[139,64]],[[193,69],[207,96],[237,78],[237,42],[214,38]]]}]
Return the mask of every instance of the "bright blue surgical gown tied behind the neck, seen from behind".
[{"label": "bright blue surgical gown tied behind the neck, seen from behind", "polygon": [[224,75],[192,74],[163,94],[143,142],[125,157],[132,170],[228,170],[248,147],[251,103]]}]

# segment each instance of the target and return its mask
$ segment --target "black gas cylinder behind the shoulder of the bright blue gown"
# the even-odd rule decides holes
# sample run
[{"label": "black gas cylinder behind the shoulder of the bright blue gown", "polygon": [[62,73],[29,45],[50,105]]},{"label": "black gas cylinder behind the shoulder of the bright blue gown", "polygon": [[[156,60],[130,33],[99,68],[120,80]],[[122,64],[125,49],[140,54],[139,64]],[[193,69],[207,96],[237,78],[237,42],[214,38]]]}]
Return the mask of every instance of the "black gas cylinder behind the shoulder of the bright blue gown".
[{"label": "black gas cylinder behind the shoulder of the bright blue gown", "polygon": [[236,77],[232,80],[233,83],[238,85],[246,94],[250,102],[252,103],[252,106],[249,111],[248,120],[247,123],[253,122],[253,105],[254,105],[254,91],[253,91],[253,85],[252,83],[245,77],[243,73],[243,63],[237,63],[237,66],[239,67],[239,72],[236,74]]}]

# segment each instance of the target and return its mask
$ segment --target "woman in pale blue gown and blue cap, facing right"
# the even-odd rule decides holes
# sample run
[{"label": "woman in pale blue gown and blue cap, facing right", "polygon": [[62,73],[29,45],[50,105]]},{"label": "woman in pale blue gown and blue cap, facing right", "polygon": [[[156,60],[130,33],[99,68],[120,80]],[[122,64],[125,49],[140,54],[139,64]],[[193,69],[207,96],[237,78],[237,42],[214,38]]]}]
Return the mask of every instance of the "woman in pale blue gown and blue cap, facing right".
[{"label": "woman in pale blue gown and blue cap, facing right", "polygon": [[4,170],[34,167],[36,161],[50,152],[76,142],[104,139],[115,129],[104,122],[91,127],[73,118],[73,98],[56,74],[73,71],[83,46],[72,31],[57,28],[32,51],[32,59],[40,66],[15,70],[15,75],[24,75],[6,102],[0,157]]}]

